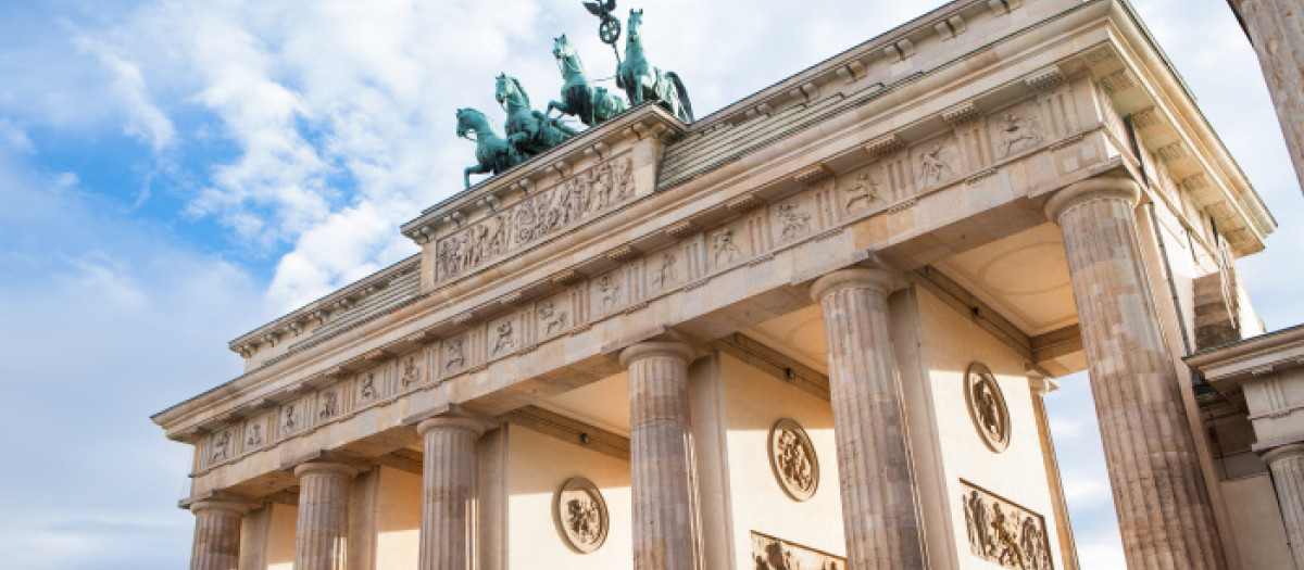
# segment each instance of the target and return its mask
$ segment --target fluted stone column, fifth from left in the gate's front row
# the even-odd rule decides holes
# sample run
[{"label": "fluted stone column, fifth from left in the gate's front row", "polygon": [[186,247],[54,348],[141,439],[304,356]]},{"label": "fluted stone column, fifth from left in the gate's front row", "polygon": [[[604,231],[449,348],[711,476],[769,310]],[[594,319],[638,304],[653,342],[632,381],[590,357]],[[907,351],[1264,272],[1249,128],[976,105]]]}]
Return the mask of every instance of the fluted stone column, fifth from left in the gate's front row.
[{"label": "fluted stone column, fifth from left in the gate's front row", "polygon": [[902,393],[888,321],[893,277],[844,269],[811,297],[824,312],[829,398],[849,570],[923,567],[918,488],[906,453]]}]

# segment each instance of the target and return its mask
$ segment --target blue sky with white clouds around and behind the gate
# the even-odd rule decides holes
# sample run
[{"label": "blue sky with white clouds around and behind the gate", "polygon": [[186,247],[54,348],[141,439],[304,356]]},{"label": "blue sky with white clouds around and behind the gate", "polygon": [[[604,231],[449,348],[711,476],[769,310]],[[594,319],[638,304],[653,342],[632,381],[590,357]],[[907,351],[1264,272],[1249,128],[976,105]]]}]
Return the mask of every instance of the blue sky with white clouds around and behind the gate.
[{"label": "blue sky with white clouds around and behind the gate", "polygon": [[[627,8],[622,0],[622,9]],[[699,115],[939,0],[645,1]],[[1282,223],[1241,262],[1270,329],[1304,321],[1304,198],[1224,0],[1137,0]],[[454,109],[509,72],[556,96],[578,0],[0,1],[0,560],[177,569],[189,448],[149,415],[239,373],[230,338],[415,251],[460,189]],[[1084,567],[1121,567],[1085,379],[1051,397]]]}]

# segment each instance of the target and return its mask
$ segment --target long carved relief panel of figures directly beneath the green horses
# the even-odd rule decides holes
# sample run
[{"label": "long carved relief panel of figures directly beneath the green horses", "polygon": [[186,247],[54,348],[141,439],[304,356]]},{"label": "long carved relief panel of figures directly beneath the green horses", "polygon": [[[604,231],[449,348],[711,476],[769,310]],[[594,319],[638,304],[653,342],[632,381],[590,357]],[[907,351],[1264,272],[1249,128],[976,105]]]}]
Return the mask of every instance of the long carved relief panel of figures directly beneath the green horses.
[{"label": "long carved relief panel of figures directly beneath the green horses", "polygon": [[621,157],[576,173],[557,186],[439,238],[436,280],[485,265],[562,228],[591,219],[634,198],[632,164]]}]

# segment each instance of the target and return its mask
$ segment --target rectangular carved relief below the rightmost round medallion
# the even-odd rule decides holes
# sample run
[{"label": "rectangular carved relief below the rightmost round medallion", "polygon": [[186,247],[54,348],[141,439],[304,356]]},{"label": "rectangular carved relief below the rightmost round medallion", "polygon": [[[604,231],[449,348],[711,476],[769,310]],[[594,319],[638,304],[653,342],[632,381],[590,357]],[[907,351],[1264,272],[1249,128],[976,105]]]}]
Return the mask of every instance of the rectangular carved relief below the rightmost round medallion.
[{"label": "rectangular carved relief below the rightmost round medallion", "polygon": [[1046,519],[961,480],[969,552],[1012,570],[1054,570]]}]

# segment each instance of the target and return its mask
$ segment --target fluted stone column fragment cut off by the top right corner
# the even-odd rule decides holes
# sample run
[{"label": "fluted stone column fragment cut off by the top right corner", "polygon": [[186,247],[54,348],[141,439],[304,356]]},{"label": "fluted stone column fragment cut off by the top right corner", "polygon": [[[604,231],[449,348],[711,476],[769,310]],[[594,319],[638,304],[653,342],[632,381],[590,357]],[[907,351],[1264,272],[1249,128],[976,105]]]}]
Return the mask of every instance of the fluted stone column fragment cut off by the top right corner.
[{"label": "fluted stone column fragment cut off by the top right corner", "polygon": [[1232,0],[1231,5],[1254,44],[1295,176],[1304,186],[1304,5],[1299,0]]}]

